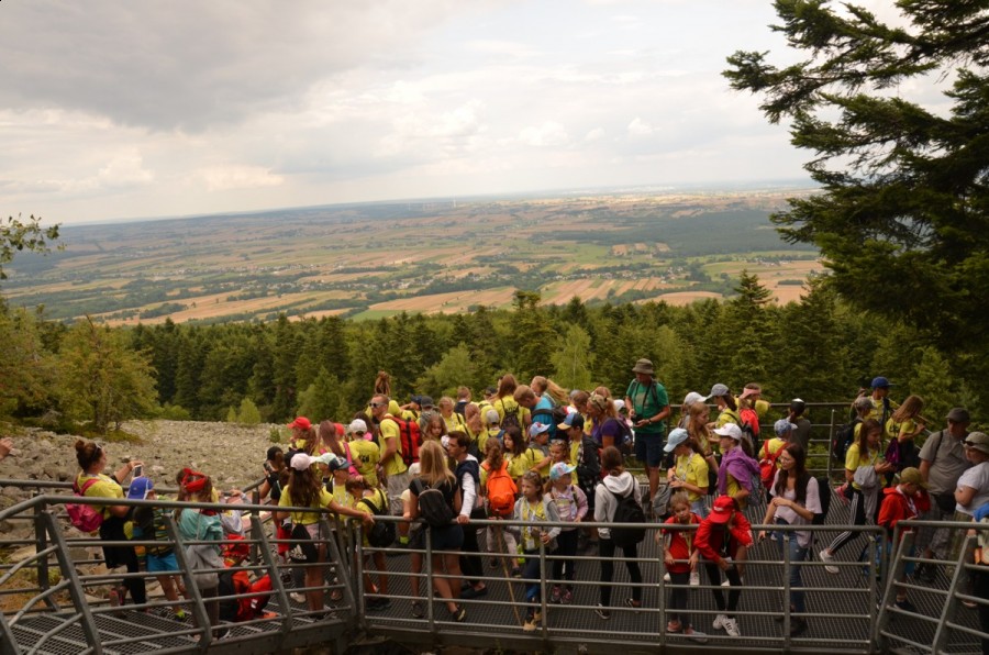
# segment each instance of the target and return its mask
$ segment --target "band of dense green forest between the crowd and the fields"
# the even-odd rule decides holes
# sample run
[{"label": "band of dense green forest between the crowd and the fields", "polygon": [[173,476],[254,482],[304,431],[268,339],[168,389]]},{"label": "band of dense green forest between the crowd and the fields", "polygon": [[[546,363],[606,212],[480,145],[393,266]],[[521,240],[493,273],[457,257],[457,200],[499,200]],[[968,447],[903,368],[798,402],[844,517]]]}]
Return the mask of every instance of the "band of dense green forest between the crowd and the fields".
[{"label": "band of dense green forest between the crowd and the fields", "polygon": [[103,426],[134,415],[223,420],[245,399],[264,420],[297,413],[342,420],[363,408],[379,370],[402,401],[457,385],[477,392],[505,371],[565,387],[597,384],[622,392],[640,357],[652,359],[676,401],[713,382],[763,385],[785,401],[851,399],[863,380],[885,375],[894,398],[920,393],[925,415],[963,403],[985,414],[977,363],[948,360],[908,328],[847,307],[818,285],[799,303],[777,306],[754,276],[729,302],[587,308],[579,299],[542,306],[518,292],[513,309],[452,315],[400,314],[379,321],[336,317],[269,323],[109,329],[69,328],[4,311],[0,392],[5,413]]}]

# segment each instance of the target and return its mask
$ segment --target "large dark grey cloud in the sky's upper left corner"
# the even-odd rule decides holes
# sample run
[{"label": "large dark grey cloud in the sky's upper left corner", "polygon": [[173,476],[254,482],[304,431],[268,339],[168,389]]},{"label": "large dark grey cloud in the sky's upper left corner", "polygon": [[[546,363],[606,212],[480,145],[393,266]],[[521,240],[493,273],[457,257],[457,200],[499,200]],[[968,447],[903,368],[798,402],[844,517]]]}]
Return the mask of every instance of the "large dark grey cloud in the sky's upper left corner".
[{"label": "large dark grey cloud in the sky's upper left corner", "polygon": [[422,31],[456,15],[459,3],[8,4],[0,8],[8,108],[80,110],[124,125],[198,132],[290,108],[315,82],[354,67],[404,66]]}]

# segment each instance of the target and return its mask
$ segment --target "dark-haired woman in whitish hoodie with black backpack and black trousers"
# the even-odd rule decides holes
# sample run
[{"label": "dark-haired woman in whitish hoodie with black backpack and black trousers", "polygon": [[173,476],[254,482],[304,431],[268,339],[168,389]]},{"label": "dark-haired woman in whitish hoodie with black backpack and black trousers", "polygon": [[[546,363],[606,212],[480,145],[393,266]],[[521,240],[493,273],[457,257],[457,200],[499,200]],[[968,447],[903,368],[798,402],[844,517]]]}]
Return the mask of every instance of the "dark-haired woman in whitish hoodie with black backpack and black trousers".
[{"label": "dark-haired woman in whitish hoodie with black backpack and black trousers", "polygon": [[[608,404],[611,404],[609,402]],[[642,490],[631,473],[622,466],[622,454],[614,446],[604,448],[601,457],[601,468],[605,471],[604,479],[594,489],[594,521],[598,523],[611,523],[618,510],[619,499],[630,493],[636,503],[642,503]],[[611,541],[611,531],[608,528],[598,529],[598,554],[601,558],[601,590],[600,602],[594,613],[603,620],[611,619],[611,580],[614,578],[615,544]],[[632,580],[632,598],[625,599],[624,604],[630,608],[642,607],[642,571],[638,569],[638,547],[636,544],[622,546],[622,555],[625,559],[625,568]]]}]

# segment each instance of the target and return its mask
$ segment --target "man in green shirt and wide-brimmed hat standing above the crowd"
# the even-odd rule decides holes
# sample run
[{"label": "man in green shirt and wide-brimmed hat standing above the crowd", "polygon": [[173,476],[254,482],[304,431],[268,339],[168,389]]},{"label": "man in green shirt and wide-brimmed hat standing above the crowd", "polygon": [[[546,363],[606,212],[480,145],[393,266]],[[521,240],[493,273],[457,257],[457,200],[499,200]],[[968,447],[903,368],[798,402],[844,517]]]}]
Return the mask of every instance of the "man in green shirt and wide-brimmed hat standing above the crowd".
[{"label": "man in green shirt and wide-brimmed hat standing above the crowd", "polygon": [[635,458],[646,465],[649,476],[649,501],[659,487],[659,466],[663,464],[663,437],[666,435],[666,418],[669,417],[669,398],[666,387],[654,379],[656,370],[648,359],[640,359],[632,367],[635,379],[625,391],[625,407],[635,428]]}]

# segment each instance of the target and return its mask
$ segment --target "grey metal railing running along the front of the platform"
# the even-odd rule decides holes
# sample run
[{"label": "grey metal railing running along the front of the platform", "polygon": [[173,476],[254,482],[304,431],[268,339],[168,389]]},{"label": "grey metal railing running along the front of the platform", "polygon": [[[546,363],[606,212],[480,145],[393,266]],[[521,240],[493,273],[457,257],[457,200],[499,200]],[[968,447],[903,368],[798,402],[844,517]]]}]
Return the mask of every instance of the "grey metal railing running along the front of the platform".
[{"label": "grey metal railing running along the front of the platform", "polygon": [[[7,480],[0,485],[7,485]],[[37,482],[14,482],[23,486],[35,486],[38,489],[49,485]],[[522,601],[525,585],[512,577],[511,569],[519,564],[518,553],[479,554],[482,560],[482,575],[474,579],[476,585],[484,584],[489,590],[480,598],[457,599],[456,602],[467,609],[467,620],[463,623],[453,621],[442,609],[433,580],[454,578],[434,568],[432,535],[425,531],[420,548],[400,547],[396,544],[389,548],[373,548],[363,543],[359,525],[342,524],[323,520],[325,544],[330,555],[326,564],[299,565],[285,562],[278,554],[278,540],[271,535],[273,523],[266,514],[274,510],[271,506],[242,504],[236,509],[244,512],[245,534],[243,540],[225,540],[221,543],[241,543],[249,546],[251,555],[242,564],[232,567],[233,571],[245,571],[252,579],[265,575],[269,577],[271,590],[265,595],[271,614],[262,614],[236,623],[224,623],[210,626],[205,603],[212,599],[203,598],[198,592],[195,577],[185,566],[182,548],[189,542],[181,539],[174,522],[168,522],[168,544],[171,544],[179,559],[180,573],[177,574],[188,592],[188,598],[179,598],[177,602],[166,599],[148,599],[142,604],[127,604],[123,608],[112,607],[103,598],[102,591],[108,585],[126,578],[149,579],[155,574],[137,571],[121,574],[116,571],[96,573],[87,570],[100,562],[99,557],[79,557],[81,548],[97,548],[113,545],[114,542],[101,541],[82,535],[73,536],[67,530],[67,522],[62,515],[65,503],[87,504],[127,504],[141,507],[154,504],[162,508],[209,509],[223,511],[231,509],[223,503],[179,503],[175,501],[140,501],[125,499],[89,499],[66,495],[38,495],[12,508],[0,511],[0,521],[29,521],[33,523],[33,537],[24,540],[5,540],[10,547],[18,544],[32,546],[33,553],[15,563],[4,560],[0,564],[0,600],[21,595],[24,602],[14,611],[0,613],[0,654],[20,655],[21,653],[103,653],[126,652],[138,653],[158,651],[165,653],[191,652],[209,648],[214,652],[249,653],[271,652],[282,648],[314,645],[326,641],[336,641],[338,645],[349,643],[362,635],[391,636],[402,642],[421,642],[423,644],[460,644],[486,647],[492,644],[502,647],[521,650],[538,650],[567,647],[574,650],[613,652],[619,647],[648,647],[690,645],[701,647],[684,635],[667,634],[667,617],[671,610],[668,606],[669,593],[684,590],[689,595],[689,613],[696,619],[694,628],[707,632],[709,647],[724,650],[731,645],[737,650],[816,650],[846,652],[877,652],[897,647],[920,650],[920,652],[942,653],[971,650],[981,639],[989,639],[986,626],[976,620],[975,612],[960,607],[963,601],[974,601],[986,606],[985,599],[974,597],[965,589],[969,573],[982,574],[976,565],[966,559],[968,547],[954,558],[923,558],[910,553],[912,533],[901,532],[913,528],[943,528],[948,530],[985,530],[989,526],[966,523],[903,522],[890,539],[886,531],[870,525],[847,526],[832,525],[758,525],[754,532],[767,530],[776,535],[776,540],[756,543],[744,562],[744,586],[742,601],[735,615],[742,625],[742,635],[737,637],[722,633],[712,633],[705,626],[723,613],[713,603],[715,593],[731,592],[712,579],[702,575],[700,586],[678,586],[664,579],[666,565],[663,557],[662,540],[654,539],[662,529],[670,531],[687,530],[691,526],[647,525],[645,540],[638,546],[636,562],[640,564],[643,579],[641,584],[632,584],[624,573],[624,558],[614,557],[615,575],[612,581],[602,582],[599,570],[602,557],[592,549],[577,556],[563,557],[547,553],[544,547],[537,554],[538,579],[531,584],[538,586],[537,609],[542,622],[534,631],[521,629],[522,614],[530,609]],[[838,502],[837,500],[833,502]],[[297,511],[308,508],[278,508]],[[760,520],[762,517],[758,517]],[[401,522],[400,518],[381,517],[380,521]],[[511,530],[522,528],[516,521],[471,521],[470,530]],[[544,528],[558,525],[570,528],[570,523],[541,523]],[[582,523],[584,529],[613,528],[607,523]],[[846,559],[854,556],[852,549],[843,553],[841,562],[829,563],[837,566],[840,574],[834,576],[824,571],[822,562],[813,558],[813,553],[822,547],[821,540],[816,547],[813,542],[810,548],[811,558],[804,562],[791,562],[789,548],[781,548],[782,543],[793,539],[796,531],[807,531],[818,536],[821,533],[834,533],[852,530],[864,536],[864,557]],[[971,545],[969,537],[966,546]],[[863,540],[859,540],[863,541]],[[118,542],[119,543],[119,542]],[[123,543],[131,546],[160,546],[166,542],[134,540]],[[481,543],[484,543],[481,541]],[[892,548],[891,544],[897,547]],[[375,589],[365,588],[365,574],[371,579],[377,570],[368,563],[376,553],[391,555],[386,559],[389,577],[388,598],[392,601],[388,611],[377,611],[368,606],[368,599],[378,599]],[[621,553],[621,551],[619,551]],[[851,554],[851,555],[849,555]],[[398,557],[395,557],[398,555]],[[422,558],[421,569],[413,571],[410,563],[418,555]],[[498,568],[490,567],[490,559],[497,562]],[[556,581],[552,569],[556,562],[565,560],[577,567],[574,587],[575,602],[571,604],[551,603],[552,588]],[[904,576],[910,564],[926,563],[942,568],[936,584],[918,585],[913,578]],[[332,570],[331,570],[332,567]],[[808,611],[799,617],[790,609],[791,591],[790,571],[801,571],[802,589],[808,597]],[[320,568],[323,575],[321,585],[310,590],[330,595],[340,595],[340,600],[331,603],[333,614],[322,615],[323,610],[310,611],[304,602],[291,598],[291,593],[305,591],[304,585],[292,581],[292,571],[305,568]],[[859,575],[862,574],[864,575]],[[11,584],[15,579],[30,574],[36,580],[22,588]],[[949,575],[948,575],[949,574]],[[334,576],[336,580],[334,580]],[[420,593],[411,591],[412,579],[419,582]],[[566,582],[564,582],[566,584]],[[622,599],[622,592],[637,588],[645,602],[641,608],[612,603],[609,608],[612,617],[603,623],[594,611],[602,587],[612,589],[612,597]],[[916,607],[911,610],[896,604],[897,592],[907,590],[914,599]],[[223,593],[219,601],[251,600],[256,592]],[[940,599],[940,600],[938,600]],[[411,615],[412,601],[423,603],[424,617]],[[162,615],[170,615],[171,609],[180,606],[191,613],[195,624],[178,623]],[[327,608],[326,611],[330,611]],[[438,611],[437,611],[438,610]],[[124,611],[124,618],[118,614]],[[779,619],[779,621],[774,621]],[[811,629],[803,634],[792,635],[790,629],[797,620],[805,620]],[[211,630],[212,628],[212,630]],[[224,639],[219,639],[227,631]],[[198,641],[197,641],[198,639]]]}]

